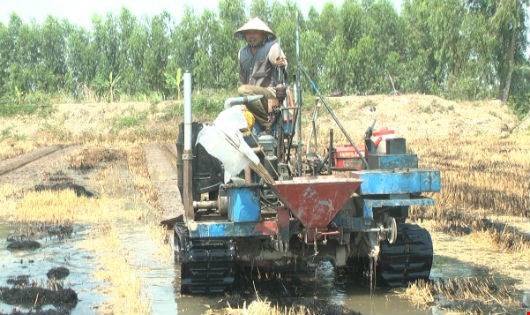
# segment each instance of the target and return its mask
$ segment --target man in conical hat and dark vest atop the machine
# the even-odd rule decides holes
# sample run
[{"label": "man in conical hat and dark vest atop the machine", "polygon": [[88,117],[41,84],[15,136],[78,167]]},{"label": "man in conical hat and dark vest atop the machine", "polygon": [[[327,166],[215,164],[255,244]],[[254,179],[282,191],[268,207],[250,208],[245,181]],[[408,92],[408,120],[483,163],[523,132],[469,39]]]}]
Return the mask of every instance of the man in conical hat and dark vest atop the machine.
[{"label": "man in conical hat and dark vest atop the machine", "polygon": [[241,96],[261,94],[261,100],[247,104],[254,114],[256,122],[269,129],[269,100],[276,97],[278,69],[287,66],[285,54],[275,41],[273,31],[259,18],[250,19],[241,26],[235,36],[245,40],[247,45],[239,50],[237,60],[239,68],[238,93]]}]

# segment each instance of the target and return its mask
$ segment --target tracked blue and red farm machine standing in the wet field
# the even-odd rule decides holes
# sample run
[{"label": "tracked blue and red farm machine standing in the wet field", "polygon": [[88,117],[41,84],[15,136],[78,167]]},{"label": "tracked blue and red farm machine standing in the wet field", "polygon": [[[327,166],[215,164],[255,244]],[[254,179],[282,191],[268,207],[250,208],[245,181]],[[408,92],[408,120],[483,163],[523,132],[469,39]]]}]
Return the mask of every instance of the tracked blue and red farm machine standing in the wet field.
[{"label": "tracked blue and red farm machine standing in the wet field", "polygon": [[320,261],[370,270],[371,285],[429,277],[431,237],[406,219],[410,206],[434,204],[422,194],[440,190],[440,173],[419,169],[405,139],[374,130],[375,120],[355,145],[310,83],[350,142],[335,146],[330,130],[324,157],[302,145],[299,81],[292,93],[278,86],[274,125],[264,131],[249,129],[244,115],[243,104],[259,95],[229,98],[214,122],[193,122],[191,74],[184,75],[183,211],[166,222],[183,293],[223,292],[249,270],[303,270]]}]

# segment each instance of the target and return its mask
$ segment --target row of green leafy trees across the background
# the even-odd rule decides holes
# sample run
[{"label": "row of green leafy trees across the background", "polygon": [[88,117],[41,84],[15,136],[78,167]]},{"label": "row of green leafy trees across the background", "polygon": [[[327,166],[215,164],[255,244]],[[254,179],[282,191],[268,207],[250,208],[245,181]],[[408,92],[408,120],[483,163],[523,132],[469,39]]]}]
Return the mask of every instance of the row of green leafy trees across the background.
[{"label": "row of green leafy trees across the background", "polygon": [[[94,16],[85,29],[49,16],[0,23],[0,95],[178,95],[182,70],[196,89],[233,89],[244,42],[234,31],[259,16],[275,31],[295,73],[299,16],[301,64],[321,90],[345,94],[425,93],[498,98],[529,110],[528,0],[389,0],[326,3],[306,16],[294,1],[221,0],[218,9],[187,8],[138,18],[127,8]],[[298,14],[297,14],[298,13]],[[292,76],[289,76],[292,80]]]}]

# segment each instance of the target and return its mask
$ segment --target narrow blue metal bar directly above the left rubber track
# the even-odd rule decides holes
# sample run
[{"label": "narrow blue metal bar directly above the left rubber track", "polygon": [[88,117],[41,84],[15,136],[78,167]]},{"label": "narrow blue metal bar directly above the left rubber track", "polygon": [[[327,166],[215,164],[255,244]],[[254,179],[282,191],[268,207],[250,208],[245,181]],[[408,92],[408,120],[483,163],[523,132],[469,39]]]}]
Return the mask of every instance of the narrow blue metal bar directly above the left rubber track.
[{"label": "narrow blue metal bar directly above the left rubber track", "polygon": [[277,234],[275,221],[262,222],[191,222],[188,224],[192,238],[247,237]]}]

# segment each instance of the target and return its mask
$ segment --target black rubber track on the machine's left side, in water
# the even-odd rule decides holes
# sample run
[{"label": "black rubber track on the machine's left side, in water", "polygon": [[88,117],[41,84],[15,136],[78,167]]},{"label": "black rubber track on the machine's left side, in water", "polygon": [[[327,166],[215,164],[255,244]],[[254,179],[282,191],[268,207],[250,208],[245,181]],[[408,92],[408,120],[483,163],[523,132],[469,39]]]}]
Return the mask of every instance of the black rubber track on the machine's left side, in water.
[{"label": "black rubber track on the machine's left side, in water", "polygon": [[[180,230],[180,231],[179,231]],[[235,244],[231,240],[187,239],[187,229],[177,228],[184,240],[180,254],[181,292],[223,293],[235,279]]]}]

